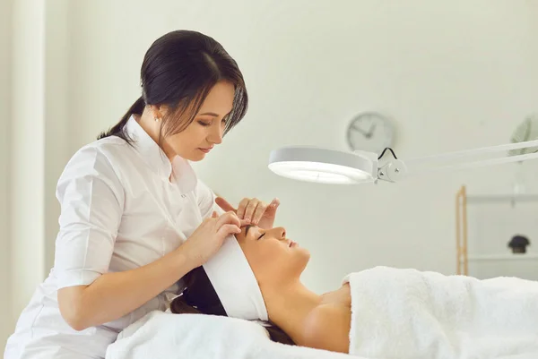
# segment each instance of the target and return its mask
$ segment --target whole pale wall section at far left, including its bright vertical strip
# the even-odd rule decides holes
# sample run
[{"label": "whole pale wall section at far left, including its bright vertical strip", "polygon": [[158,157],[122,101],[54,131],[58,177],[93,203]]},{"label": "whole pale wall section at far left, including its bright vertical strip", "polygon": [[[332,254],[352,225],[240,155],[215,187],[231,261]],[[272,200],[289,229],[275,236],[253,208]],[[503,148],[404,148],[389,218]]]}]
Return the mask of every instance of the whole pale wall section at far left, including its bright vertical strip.
[{"label": "whole pale wall section at far left, including its bright vertical strip", "polygon": [[[14,321],[54,261],[59,215],[54,189],[69,157],[69,6],[68,0],[18,1],[14,6],[10,1],[1,10],[6,56],[0,58],[0,165],[6,175],[0,178],[0,228],[5,234],[0,240],[6,251],[0,252],[0,276],[5,276],[0,283],[9,288],[0,297],[4,347]],[[52,238],[49,245],[46,238]]]}]

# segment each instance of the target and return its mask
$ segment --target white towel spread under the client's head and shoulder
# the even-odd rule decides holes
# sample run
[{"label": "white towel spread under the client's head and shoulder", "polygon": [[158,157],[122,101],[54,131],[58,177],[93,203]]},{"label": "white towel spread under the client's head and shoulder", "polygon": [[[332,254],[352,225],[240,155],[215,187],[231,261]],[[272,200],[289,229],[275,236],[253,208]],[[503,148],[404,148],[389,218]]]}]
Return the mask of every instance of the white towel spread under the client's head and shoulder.
[{"label": "white towel spread under the client's head and shoulder", "polygon": [[119,334],[108,346],[106,358],[351,359],[351,355],[274,343],[253,321],[151,312]]}]

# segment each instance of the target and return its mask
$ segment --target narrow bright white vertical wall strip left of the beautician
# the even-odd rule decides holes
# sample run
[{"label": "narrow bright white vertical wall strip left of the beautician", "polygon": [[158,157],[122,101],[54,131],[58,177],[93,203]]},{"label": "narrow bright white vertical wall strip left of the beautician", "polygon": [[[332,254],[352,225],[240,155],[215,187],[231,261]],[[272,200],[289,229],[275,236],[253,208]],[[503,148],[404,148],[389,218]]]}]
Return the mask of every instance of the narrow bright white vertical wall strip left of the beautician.
[{"label": "narrow bright white vertical wall strip left of the beautician", "polygon": [[14,316],[44,278],[45,1],[13,2],[11,260]]}]

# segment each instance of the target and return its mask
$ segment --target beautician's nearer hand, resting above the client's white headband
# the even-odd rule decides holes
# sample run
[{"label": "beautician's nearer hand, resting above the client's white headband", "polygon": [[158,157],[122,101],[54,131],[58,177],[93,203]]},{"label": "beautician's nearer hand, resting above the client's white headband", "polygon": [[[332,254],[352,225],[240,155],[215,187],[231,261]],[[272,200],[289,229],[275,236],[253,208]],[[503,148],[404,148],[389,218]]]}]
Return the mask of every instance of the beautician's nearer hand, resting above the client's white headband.
[{"label": "beautician's nearer hand, resting above the client's white headband", "polygon": [[229,211],[221,216],[213,212],[212,218],[206,218],[178,250],[185,252],[187,261],[195,269],[209,261],[213,254],[221,249],[228,235],[241,233],[240,227],[241,222],[235,212]]}]

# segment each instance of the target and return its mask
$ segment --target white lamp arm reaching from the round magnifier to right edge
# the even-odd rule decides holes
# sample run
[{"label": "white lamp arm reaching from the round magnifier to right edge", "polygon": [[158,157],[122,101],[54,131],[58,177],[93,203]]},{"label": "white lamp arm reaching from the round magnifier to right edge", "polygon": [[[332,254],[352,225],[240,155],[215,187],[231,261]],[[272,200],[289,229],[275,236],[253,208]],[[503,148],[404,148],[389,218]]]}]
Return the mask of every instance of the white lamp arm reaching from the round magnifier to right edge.
[{"label": "white lamp arm reaching from the round magnifier to right edge", "polygon": [[[484,147],[482,149],[461,150],[439,155],[408,160],[391,159],[378,167],[377,178],[388,182],[397,182],[404,176],[423,174],[426,172],[454,171],[464,168],[487,167],[511,162],[521,162],[538,158],[538,151],[522,155],[510,156],[508,150],[537,147],[538,140],[510,143],[505,145]],[[494,155],[492,158],[477,159],[479,155]]]}]

